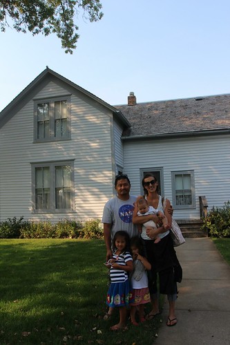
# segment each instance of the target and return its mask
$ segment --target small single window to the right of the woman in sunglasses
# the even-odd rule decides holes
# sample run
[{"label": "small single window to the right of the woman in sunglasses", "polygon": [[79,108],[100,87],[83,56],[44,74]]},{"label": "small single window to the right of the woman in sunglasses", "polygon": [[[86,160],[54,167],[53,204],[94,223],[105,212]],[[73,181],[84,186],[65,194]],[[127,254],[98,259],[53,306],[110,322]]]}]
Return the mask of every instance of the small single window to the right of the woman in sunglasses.
[{"label": "small single window to the right of the woman in sunglasses", "polygon": [[173,207],[195,207],[194,171],[173,171]]}]

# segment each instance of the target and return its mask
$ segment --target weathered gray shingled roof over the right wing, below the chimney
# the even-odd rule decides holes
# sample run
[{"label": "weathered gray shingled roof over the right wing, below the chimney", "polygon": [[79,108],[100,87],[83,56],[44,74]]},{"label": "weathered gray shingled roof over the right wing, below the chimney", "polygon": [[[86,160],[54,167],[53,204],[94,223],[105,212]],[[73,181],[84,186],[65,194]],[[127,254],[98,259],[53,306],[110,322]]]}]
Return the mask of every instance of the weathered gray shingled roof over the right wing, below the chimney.
[{"label": "weathered gray shingled roof over the right wing, below the chimney", "polygon": [[131,124],[123,138],[230,133],[230,95],[115,106]]}]

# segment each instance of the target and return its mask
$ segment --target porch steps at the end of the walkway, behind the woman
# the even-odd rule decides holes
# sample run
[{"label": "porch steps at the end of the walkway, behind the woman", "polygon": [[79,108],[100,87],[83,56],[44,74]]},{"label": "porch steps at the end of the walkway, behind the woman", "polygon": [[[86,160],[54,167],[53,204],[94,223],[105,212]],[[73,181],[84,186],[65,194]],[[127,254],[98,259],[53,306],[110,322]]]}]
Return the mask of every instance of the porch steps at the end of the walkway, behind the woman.
[{"label": "porch steps at the end of the walkway, behind the woman", "polygon": [[200,229],[203,222],[200,219],[176,219],[184,238],[186,237],[207,237],[208,234]]}]

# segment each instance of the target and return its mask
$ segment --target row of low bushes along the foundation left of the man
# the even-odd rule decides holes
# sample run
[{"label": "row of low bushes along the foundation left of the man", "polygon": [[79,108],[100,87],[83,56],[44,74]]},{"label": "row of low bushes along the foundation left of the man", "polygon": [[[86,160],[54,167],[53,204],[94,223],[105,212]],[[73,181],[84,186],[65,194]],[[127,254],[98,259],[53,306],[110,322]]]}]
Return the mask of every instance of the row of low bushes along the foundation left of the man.
[{"label": "row of low bushes along the foundation left of the man", "polygon": [[99,219],[79,221],[63,219],[56,224],[50,221],[38,223],[23,221],[23,217],[8,218],[0,223],[0,239],[102,239]]}]

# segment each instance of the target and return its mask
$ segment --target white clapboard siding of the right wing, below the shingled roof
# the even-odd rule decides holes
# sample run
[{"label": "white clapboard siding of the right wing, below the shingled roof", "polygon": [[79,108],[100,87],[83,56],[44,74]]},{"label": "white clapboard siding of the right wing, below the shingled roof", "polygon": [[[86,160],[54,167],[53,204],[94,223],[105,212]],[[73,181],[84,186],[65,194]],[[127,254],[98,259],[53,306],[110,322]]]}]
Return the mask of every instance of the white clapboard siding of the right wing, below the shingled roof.
[{"label": "white clapboard siding of the right wing, below the shingled roof", "polygon": [[193,170],[195,209],[175,209],[175,218],[200,218],[199,196],[209,209],[230,200],[230,136],[124,142],[124,168],[132,194],[140,194],[140,169],[163,168],[164,195],[172,200],[171,171]]}]

